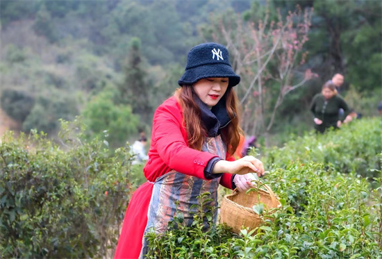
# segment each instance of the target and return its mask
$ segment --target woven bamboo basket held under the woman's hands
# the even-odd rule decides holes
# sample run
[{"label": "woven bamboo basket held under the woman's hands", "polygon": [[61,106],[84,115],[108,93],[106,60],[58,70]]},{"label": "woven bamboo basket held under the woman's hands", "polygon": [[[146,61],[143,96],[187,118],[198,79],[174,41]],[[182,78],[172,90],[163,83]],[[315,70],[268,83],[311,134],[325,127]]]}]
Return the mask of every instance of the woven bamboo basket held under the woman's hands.
[{"label": "woven bamboo basket held under the woman's hands", "polygon": [[[224,196],[220,206],[220,223],[230,226],[233,233],[240,233],[244,226],[249,231],[260,226],[262,219],[254,212],[253,207],[259,203],[264,203],[264,213],[271,208],[281,207],[279,199],[268,185],[262,185],[265,190],[249,192],[238,192],[234,190],[232,194]],[[260,202],[259,202],[260,198]]]}]

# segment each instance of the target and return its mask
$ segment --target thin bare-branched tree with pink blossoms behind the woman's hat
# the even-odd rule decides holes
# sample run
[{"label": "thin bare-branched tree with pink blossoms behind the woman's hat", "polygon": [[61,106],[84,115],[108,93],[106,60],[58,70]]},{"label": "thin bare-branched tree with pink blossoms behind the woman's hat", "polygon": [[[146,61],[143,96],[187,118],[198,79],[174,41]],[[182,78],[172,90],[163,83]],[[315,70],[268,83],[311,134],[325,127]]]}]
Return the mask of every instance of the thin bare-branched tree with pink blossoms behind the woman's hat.
[{"label": "thin bare-branched tree with pink blossoms behind the woman's hat", "polygon": [[312,9],[293,12],[277,19],[244,21],[231,12],[211,17],[210,25],[199,28],[204,39],[226,44],[235,72],[242,77],[236,91],[243,107],[242,128],[249,135],[264,134],[266,144],[278,108],[285,96],[317,76],[310,69],[301,71],[307,52]]}]

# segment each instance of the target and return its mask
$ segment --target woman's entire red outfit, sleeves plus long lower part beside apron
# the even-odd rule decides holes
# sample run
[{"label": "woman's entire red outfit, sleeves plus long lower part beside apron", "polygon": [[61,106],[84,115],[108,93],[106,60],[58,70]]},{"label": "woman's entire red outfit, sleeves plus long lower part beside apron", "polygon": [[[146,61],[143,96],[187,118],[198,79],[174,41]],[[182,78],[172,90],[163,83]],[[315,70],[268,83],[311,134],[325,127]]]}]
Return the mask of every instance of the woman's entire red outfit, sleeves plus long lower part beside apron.
[{"label": "woman's entire red outfit, sleeves plus long lower part beside apron", "polygon": [[[216,156],[211,153],[188,147],[181,106],[174,97],[170,97],[157,108],[153,117],[149,160],[143,169],[148,181],[155,182],[156,178],[172,169],[205,179],[204,169],[214,157]],[[235,159],[229,156],[227,160]],[[232,189],[231,177],[231,174],[223,174],[220,184]],[[153,185],[147,182],[135,191],[126,210],[115,258],[138,258],[147,225],[152,190]]]}]

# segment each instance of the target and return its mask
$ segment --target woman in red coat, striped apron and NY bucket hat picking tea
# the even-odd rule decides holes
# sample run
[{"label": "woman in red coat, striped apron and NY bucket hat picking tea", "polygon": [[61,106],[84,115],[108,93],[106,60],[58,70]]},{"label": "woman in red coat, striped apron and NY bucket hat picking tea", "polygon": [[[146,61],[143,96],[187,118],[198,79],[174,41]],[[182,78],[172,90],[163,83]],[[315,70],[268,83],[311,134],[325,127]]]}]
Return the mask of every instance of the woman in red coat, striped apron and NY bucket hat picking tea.
[{"label": "woman in red coat, striped apron and NY bucket hat picking tea", "polygon": [[191,226],[200,194],[210,192],[208,205],[216,207],[219,184],[245,191],[255,178],[249,173],[264,173],[253,156],[230,156],[242,135],[233,92],[239,82],[226,47],[210,42],[190,50],[181,87],[154,114],[147,183],[128,205],[115,258],[144,258],[145,233],[165,232],[176,210]]}]

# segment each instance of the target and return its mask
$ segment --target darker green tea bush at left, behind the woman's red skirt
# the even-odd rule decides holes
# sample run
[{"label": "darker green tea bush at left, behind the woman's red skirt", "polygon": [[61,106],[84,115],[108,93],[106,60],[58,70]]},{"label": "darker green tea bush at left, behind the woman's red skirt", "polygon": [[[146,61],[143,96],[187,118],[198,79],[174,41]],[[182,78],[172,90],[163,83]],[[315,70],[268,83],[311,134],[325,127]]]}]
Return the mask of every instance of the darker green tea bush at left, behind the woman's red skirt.
[{"label": "darker green tea bush at left, behind the woman's red skirt", "polygon": [[[0,144],[0,258],[110,257],[131,194],[128,150],[63,123]],[[78,130],[78,128],[77,128]]]}]

